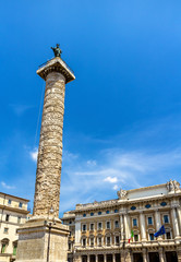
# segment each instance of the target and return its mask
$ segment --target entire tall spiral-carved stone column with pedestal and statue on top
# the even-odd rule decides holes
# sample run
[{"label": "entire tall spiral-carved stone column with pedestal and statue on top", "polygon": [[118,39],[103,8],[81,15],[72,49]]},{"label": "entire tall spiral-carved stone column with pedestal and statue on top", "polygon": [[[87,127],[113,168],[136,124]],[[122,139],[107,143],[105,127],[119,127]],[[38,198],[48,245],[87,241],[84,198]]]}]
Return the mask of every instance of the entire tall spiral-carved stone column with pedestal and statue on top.
[{"label": "entire tall spiral-carved stone column with pedestal and statue on top", "polygon": [[65,262],[69,227],[59,219],[62,165],[62,130],[65,84],[75,79],[61,59],[59,45],[55,58],[37,74],[46,81],[38,148],[33,217],[19,230],[19,262]]}]

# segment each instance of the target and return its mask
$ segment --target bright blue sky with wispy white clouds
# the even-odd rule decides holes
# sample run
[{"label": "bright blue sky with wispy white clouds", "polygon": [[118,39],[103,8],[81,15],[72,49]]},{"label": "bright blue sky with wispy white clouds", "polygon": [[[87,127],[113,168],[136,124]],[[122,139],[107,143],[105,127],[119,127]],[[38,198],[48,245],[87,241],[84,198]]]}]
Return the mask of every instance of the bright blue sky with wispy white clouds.
[{"label": "bright blue sky with wispy white clouds", "polygon": [[180,1],[19,0],[0,13],[0,191],[33,206],[45,88],[36,70],[57,43],[76,76],[65,94],[60,213],[120,188],[181,182]]}]

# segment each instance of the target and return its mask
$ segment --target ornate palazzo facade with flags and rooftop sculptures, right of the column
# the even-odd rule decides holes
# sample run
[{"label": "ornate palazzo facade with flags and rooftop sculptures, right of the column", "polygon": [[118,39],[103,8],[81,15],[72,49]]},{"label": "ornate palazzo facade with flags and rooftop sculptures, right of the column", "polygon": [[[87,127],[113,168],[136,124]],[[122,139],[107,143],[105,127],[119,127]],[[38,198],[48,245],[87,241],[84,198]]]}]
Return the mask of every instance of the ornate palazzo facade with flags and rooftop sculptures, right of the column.
[{"label": "ornate palazzo facade with flags and rooftop sculptures, right of the column", "polygon": [[[117,193],[118,199],[76,204],[64,213],[69,262],[181,262],[180,183]],[[162,225],[166,234],[155,238]]]}]

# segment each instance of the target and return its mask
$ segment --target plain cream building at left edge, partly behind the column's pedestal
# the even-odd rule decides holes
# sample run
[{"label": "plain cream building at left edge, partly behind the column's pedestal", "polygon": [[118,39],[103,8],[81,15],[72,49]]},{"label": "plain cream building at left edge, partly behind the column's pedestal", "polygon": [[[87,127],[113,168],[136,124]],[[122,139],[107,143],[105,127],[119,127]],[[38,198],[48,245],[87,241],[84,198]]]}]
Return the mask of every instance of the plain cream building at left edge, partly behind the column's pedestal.
[{"label": "plain cream building at left edge, partly behind the column's pedestal", "polygon": [[19,239],[16,230],[29,217],[28,202],[0,192],[0,262],[15,260]]}]

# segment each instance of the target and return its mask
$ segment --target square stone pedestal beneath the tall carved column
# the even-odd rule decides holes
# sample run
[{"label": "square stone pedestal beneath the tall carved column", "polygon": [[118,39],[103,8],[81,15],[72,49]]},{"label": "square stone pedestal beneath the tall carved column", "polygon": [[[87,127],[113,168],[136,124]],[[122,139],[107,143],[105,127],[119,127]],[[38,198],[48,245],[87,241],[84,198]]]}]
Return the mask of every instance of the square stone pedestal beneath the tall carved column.
[{"label": "square stone pedestal beneath the tall carved column", "polygon": [[69,226],[60,219],[31,219],[17,229],[16,262],[68,261]]}]

